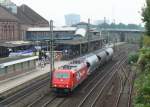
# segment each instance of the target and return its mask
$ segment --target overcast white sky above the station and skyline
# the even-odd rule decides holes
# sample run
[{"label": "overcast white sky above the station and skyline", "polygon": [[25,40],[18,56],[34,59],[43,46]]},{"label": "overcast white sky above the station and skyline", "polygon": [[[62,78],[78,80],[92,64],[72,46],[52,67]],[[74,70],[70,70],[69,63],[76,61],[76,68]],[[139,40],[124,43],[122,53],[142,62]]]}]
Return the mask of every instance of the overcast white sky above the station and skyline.
[{"label": "overcast white sky above the station and skyline", "polygon": [[12,0],[17,5],[27,4],[54,25],[65,25],[64,15],[80,14],[81,21],[106,19],[116,23],[140,24],[141,8],[145,0]]}]

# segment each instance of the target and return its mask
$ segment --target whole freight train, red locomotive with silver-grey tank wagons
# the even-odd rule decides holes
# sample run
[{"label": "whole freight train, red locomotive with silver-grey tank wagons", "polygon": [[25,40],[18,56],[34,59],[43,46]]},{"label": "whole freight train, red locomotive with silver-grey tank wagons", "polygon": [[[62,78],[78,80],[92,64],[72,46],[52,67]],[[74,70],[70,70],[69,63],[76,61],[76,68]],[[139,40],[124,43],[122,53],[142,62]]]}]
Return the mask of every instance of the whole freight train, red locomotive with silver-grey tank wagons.
[{"label": "whole freight train, red locomotive with silver-grey tank wagons", "polygon": [[72,92],[97,68],[113,57],[113,49],[106,48],[77,58],[52,73],[52,88],[55,92]]}]

